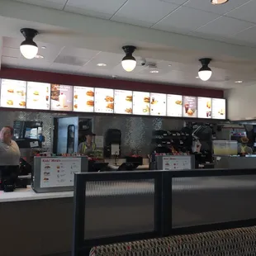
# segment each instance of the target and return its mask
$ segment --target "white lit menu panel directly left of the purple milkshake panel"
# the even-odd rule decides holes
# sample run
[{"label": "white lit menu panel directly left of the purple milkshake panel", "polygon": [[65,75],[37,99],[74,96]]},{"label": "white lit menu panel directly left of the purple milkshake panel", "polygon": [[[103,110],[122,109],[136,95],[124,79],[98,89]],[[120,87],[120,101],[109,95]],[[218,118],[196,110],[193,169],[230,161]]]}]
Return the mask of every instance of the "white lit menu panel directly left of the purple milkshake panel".
[{"label": "white lit menu panel directly left of the purple milkshake panel", "polygon": [[27,82],[26,108],[50,110],[50,83]]}]

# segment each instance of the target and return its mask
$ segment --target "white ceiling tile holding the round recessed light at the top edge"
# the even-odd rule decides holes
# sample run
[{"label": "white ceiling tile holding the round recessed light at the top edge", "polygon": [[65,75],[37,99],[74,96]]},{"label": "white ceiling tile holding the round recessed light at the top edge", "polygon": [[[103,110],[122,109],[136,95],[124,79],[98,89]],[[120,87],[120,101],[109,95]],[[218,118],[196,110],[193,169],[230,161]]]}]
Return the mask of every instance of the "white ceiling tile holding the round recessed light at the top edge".
[{"label": "white ceiling tile holding the round recessed light at the top edge", "polygon": [[229,2],[220,5],[213,5],[210,0],[190,0],[184,5],[206,12],[224,14],[225,12],[230,12],[235,7],[243,5],[245,2],[249,2],[249,0],[230,0]]}]

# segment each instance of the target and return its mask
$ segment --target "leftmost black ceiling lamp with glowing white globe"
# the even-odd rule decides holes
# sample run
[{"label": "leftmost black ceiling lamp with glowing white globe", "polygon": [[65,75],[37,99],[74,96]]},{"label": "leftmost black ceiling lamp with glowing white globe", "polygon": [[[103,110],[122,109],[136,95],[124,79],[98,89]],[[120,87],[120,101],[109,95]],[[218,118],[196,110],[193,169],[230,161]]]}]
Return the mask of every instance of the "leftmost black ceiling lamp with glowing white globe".
[{"label": "leftmost black ceiling lamp with glowing white globe", "polygon": [[33,39],[38,34],[38,31],[31,28],[22,28],[21,34],[25,37],[25,40],[20,46],[21,55],[23,55],[26,59],[35,58],[38,52],[38,47]]}]

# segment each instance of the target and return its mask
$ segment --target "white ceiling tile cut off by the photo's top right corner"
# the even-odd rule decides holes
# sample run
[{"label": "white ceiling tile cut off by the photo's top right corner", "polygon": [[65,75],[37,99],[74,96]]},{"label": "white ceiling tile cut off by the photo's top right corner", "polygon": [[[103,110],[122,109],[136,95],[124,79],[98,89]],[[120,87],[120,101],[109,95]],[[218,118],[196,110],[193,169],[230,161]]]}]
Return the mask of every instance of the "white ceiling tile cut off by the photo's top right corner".
[{"label": "white ceiling tile cut off by the photo's top right corner", "polygon": [[243,21],[250,21],[256,23],[256,1],[250,1],[236,8],[235,10],[228,12],[226,16],[234,17]]}]

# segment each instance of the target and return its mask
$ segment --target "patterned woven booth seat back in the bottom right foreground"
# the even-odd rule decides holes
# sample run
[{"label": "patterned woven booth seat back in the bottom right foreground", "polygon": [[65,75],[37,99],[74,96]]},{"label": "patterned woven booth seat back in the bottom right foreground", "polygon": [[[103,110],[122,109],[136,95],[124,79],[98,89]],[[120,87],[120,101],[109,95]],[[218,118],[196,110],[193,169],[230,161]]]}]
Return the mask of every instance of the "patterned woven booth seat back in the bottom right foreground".
[{"label": "patterned woven booth seat back in the bottom right foreground", "polygon": [[[256,227],[173,235],[91,249],[90,256],[248,256],[256,255]],[[84,255],[86,256],[86,255]]]}]

